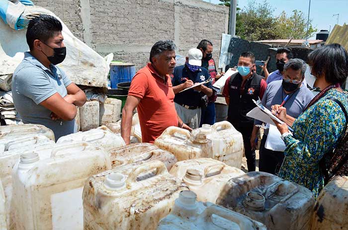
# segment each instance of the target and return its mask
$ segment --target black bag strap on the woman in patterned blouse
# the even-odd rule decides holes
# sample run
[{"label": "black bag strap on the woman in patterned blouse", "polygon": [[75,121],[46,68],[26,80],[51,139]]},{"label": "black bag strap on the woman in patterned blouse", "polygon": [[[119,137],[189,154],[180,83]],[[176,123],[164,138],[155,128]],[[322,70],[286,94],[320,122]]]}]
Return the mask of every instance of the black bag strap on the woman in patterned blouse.
[{"label": "black bag strap on the woman in patterned blouse", "polygon": [[[342,103],[337,100],[336,98],[328,98],[328,100],[331,100],[331,101],[334,101],[336,102],[342,109],[342,112],[345,114],[345,117],[346,117],[346,124],[345,124],[345,128],[344,130],[342,131],[342,134],[341,134],[341,137],[339,138],[338,140],[338,143],[341,142],[341,140],[345,137],[345,134],[346,134],[346,131],[347,131],[347,125],[348,125],[348,114],[347,114],[347,110],[346,108],[342,105]],[[329,152],[330,154],[331,152]],[[319,167],[321,168],[322,170],[322,173],[324,175],[324,180],[325,180],[325,184],[327,184],[329,182],[329,180],[331,179],[331,177],[333,175],[335,175],[335,173],[345,164],[345,162],[348,160],[348,155],[346,156],[346,158],[338,165],[338,167],[336,168],[336,170],[334,172],[331,173],[331,175],[329,176],[329,172],[327,170],[327,167],[326,167],[326,162],[325,162],[325,156],[327,154],[325,154],[323,156],[323,158],[320,160],[319,162]]]}]

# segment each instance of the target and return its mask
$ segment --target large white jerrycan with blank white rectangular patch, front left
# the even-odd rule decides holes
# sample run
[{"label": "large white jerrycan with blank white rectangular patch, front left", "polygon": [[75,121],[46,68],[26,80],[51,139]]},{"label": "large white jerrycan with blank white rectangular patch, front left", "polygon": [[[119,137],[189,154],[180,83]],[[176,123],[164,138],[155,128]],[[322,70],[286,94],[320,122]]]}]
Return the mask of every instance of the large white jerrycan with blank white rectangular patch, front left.
[{"label": "large white jerrycan with blank white rectangular patch, front left", "polygon": [[42,160],[35,152],[22,154],[13,167],[17,230],[83,229],[83,186],[89,176],[111,169],[111,162],[97,147],[64,152],[56,149]]}]

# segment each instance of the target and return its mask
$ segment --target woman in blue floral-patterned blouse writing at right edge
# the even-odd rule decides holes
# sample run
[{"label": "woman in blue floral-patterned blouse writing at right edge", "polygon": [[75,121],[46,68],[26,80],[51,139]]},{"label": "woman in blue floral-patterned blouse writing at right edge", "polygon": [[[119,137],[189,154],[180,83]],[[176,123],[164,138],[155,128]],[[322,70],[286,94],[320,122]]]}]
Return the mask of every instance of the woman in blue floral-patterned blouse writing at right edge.
[{"label": "woman in blue floral-patterned blouse writing at right edge", "polygon": [[348,76],[348,54],[339,44],[325,45],[308,55],[308,64],[321,92],[297,119],[286,115],[280,105],[272,106],[272,113],[285,122],[275,122],[286,146],[279,176],[307,187],[317,198],[324,187],[322,159],[330,161],[325,158],[347,129],[348,94],[341,85]]}]

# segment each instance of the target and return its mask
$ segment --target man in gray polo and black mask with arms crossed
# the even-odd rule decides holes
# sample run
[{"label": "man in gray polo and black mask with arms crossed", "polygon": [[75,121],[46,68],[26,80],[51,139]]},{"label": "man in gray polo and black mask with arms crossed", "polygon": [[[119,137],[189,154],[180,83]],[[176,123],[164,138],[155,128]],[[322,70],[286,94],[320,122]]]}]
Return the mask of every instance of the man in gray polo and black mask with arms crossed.
[{"label": "man in gray polo and black mask with arms crossed", "polygon": [[42,124],[53,130],[56,140],[74,132],[76,106],[86,102],[85,93],[65,72],[55,66],[66,56],[62,24],[41,14],[28,24],[30,52],[17,66],[12,78],[12,97],[24,123]]}]

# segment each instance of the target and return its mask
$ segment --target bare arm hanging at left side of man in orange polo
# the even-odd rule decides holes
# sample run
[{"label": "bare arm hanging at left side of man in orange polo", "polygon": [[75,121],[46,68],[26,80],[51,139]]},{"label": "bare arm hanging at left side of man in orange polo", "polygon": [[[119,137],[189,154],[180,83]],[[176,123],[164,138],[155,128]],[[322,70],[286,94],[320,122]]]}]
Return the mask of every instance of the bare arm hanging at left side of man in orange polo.
[{"label": "bare arm hanging at left side of man in orange polo", "polygon": [[121,120],[121,136],[126,143],[126,145],[130,144],[130,133],[132,129],[132,119],[133,119],[133,111],[140,103],[140,98],[134,96],[128,96],[126,100],[126,104],[122,109],[122,120]]}]

